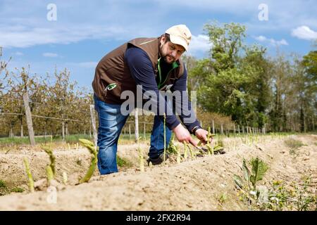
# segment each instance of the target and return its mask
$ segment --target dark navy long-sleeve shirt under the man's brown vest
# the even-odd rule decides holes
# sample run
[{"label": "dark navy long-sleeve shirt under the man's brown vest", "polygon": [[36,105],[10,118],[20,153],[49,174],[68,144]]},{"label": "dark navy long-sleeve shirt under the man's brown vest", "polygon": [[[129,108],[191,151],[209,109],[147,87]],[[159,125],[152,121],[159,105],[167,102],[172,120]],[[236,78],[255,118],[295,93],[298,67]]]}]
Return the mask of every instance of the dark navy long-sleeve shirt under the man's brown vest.
[{"label": "dark navy long-sleeve shirt under the man's brown vest", "polygon": [[[159,96],[159,98],[156,98],[158,108],[160,104],[165,104],[164,109],[166,113],[166,125],[168,126],[168,128],[174,129],[175,127],[177,127],[180,122],[173,113],[173,110],[170,108],[170,105],[168,105],[168,103],[166,102],[166,99],[159,94],[158,83],[154,75],[151,60],[149,59],[149,56],[147,56],[147,53],[142,49],[131,46],[125,52],[125,62],[128,63],[131,76],[135,79],[137,85],[142,85],[143,93],[145,91],[155,91],[156,96]],[[170,68],[170,64],[166,63],[164,60],[161,60],[162,80],[165,80]],[[185,99],[184,102],[187,103],[187,105],[183,104],[181,105],[181,107],[187,107],[190,113],[187,112],[184,114],[181,110],[179,116],[180,120],[182,120],[187,129],[191,131],[194,127],[199,126],[199,122],[194,115],[194,111],[192,110],[191,103],[188,100],[187,96],[187,71],[185,68],[184,74],[180,77],[180,79],[177,79],[175,81],[175,84],[171,88],[171,91],[182,91],[181,97]],[[191,122],[186,122],[186,119],[189,118],[194,119],[194,121],[190,120]]]}]

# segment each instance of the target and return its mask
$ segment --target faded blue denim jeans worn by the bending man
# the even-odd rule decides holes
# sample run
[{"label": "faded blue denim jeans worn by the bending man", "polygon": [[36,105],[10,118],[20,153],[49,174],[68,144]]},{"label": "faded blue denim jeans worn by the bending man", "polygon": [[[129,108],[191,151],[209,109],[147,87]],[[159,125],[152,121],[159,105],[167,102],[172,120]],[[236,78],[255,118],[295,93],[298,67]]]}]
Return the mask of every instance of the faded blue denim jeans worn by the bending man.
[{"label": "faded blue denim jeans worn by the bending man", "polygon": [[[121,105],[108,104],[94,96],[95,109],[98,112],[98,169],[101,175],[118,172],[117,148],[118,139],[128,115],[120,113]],[[166,148],[172,132],[166,127]],[[151,147],[149,157],[157,158],[164,150],[163,120],[159,116],[154,117],[153,130],[151,132]]]}]

